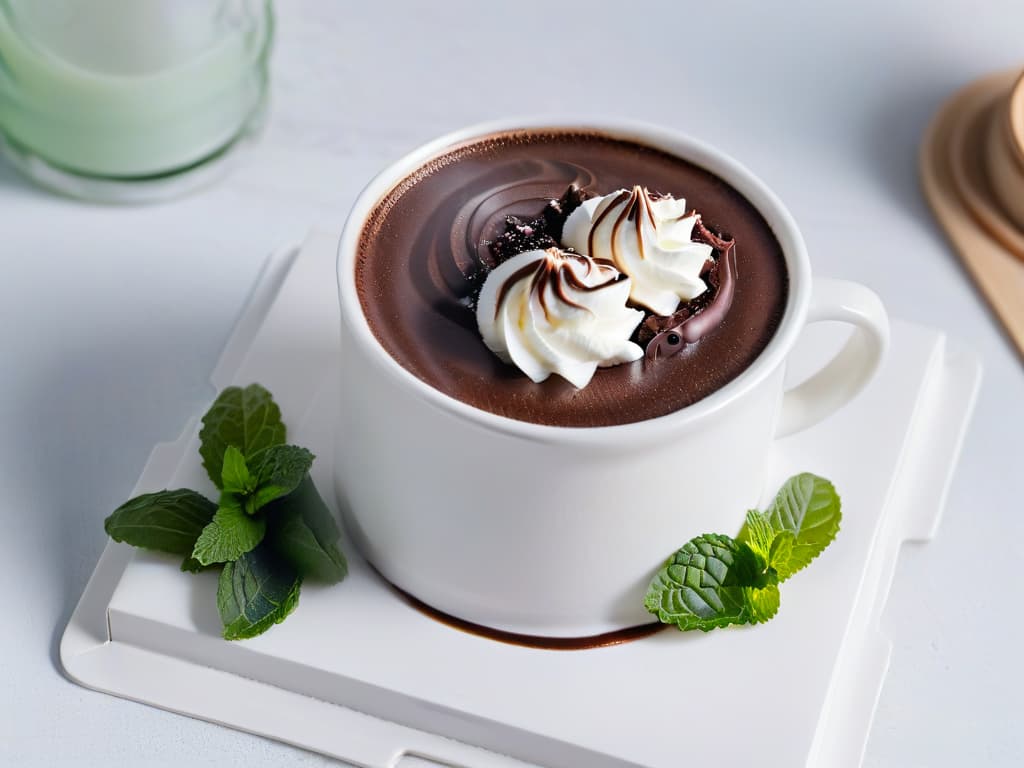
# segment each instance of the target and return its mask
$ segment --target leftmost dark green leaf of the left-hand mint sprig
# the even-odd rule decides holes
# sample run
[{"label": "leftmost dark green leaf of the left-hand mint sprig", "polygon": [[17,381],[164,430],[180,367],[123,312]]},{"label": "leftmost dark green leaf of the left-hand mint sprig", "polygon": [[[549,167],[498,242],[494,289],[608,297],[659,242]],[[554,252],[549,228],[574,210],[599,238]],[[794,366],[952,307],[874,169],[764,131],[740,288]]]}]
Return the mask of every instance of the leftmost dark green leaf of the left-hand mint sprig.
[{"label": "leftmost dark green leaf of the left-hand mint sprig", "polygon": [[133,547],[187,555],[217,506],[195,490],[161,490],[125,502],[103,521],[108,536]]}]

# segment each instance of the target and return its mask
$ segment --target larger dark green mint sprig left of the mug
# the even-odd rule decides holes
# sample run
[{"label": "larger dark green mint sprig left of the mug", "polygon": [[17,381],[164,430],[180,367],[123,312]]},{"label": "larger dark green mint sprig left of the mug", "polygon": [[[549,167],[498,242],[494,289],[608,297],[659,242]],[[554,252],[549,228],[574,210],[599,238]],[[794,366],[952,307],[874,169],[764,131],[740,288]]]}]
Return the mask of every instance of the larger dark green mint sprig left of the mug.
[{"label": "larger dark green mint sprig left of the mug", "polygon": [[217,608],[227,640],[283,622],[304,578],[334,584],[348,570],[338,526],[309,477],[315,457],[285,444],[286,434],[266,389],[228,387],[200,431],[219,503],[185,488],[143,494],[103,523],[115,541],[184,556],[183,571],[220,567]]}]

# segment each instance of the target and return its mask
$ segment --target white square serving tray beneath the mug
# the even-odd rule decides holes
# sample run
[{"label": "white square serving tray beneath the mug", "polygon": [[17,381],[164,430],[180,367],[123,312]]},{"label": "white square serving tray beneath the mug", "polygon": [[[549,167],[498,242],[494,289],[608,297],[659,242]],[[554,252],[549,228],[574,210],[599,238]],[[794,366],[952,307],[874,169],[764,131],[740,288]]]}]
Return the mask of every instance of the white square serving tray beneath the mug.
[{"label": "white square serving tray beneath the mug", "polygon": [[[313,477],[329,502],[344,366],[336,241],[313,233],[269,260],[212,377],[218,389],[258,381],[274,393],[290,440],[317,455]],[[790,373],[840,341],[809,334]],[[856,766],[888,668],[880,617],[899,549],[938,525],[979,378],[973,354],[897,322],[868,389],[776,443],[766,501],[788,475],[813,471],[835,481],[844,518],[762,627],[575,651],[506,644],[411,607],[343,542],[345,582],[305,585],[286,623],[229,643],[216,574],[184,574],[176,559],[111,543],[60,657],[83,685],[368,768]],[[154,449],[135,492],[212,494],[197,447],[194,420]],[[381,481],[394,480],[382,472]],[[667,554],[681,544],[667,542]]]}]

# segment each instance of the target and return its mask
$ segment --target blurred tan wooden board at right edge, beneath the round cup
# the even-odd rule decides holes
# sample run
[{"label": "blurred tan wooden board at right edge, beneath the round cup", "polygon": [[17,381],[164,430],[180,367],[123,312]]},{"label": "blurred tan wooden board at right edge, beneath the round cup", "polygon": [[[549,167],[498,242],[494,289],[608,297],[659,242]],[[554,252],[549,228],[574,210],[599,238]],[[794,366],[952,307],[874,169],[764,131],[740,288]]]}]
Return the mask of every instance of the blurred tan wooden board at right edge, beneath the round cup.
[{"label": "blurred tan wooden board at right edge, beneath the round cup", "polygon": [[[978,180],[984,166],[980,151],[972,148],[971,141],[976,140],[972,125],[979,120],[979,113],[1009,92],[1018,76],[1019,71],[993,75],[954,94],[928,128],[921,147],[920,165],[925,196],[936,218],[1024,355],[1024,261],[1016,258],[972,214],[958,193],[952,170],[953,158],[961,158],[956,165],[966,196],[973,194],[977,210],[984,206],[985,210],[1002,216],[998,206],[988,197],[987,183]],[[961,140],[954,142],[957,135]],[[1020,237],[1020,232],[1015,233]]]}]

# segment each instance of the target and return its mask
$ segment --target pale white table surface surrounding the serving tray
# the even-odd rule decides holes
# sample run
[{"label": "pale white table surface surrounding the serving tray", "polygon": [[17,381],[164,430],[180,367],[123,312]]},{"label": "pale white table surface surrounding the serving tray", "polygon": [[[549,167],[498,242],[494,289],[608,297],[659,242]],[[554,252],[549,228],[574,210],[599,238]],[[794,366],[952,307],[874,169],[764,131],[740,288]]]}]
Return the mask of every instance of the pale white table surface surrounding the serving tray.
[{"label": "pale white table surface surrounding the serving tray", "polygon": [[266,254],[340,226],[370,176],[414,145],[537,112],[628,116],[717,144],[788,205],[818,273],[864,282],[894,315],[977,350],[986,377],[943,525],[897,570],[865,765],[1024,764],[1024,370],[916,181],[943,98],[1024,65],[1024,5],[823,5],[290,0],[265,135],[218,185],[102,207],[0,164],[0,764],[332,764],[80,688],[57,641],[103,517],[152,445],[213,396],[208,376]]}]

